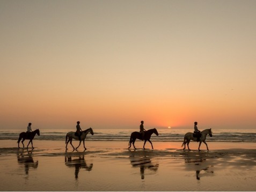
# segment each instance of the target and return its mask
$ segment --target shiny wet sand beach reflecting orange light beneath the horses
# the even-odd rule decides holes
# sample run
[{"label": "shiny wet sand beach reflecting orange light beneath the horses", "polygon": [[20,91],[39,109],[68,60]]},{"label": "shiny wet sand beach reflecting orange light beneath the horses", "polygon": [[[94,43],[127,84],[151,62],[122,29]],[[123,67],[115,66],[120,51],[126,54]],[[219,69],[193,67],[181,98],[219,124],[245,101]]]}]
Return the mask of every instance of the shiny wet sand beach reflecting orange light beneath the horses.
[{"label": "shiny wet sand beach reflecting orange light beneath the horses", "polygon": [[[24,142],[27,144],[27,141]],[[0,141],[1,191],[255,191],[256,143]],[[74,142],[77,146],[78,142]]]}]

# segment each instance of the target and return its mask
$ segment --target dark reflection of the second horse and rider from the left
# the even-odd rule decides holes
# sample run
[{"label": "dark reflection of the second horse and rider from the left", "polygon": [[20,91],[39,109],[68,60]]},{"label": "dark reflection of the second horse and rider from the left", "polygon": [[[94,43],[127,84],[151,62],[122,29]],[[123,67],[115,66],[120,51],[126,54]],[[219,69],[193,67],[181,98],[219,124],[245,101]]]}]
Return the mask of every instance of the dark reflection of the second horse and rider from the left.
[{"label": "dark reflection of the second horse and rider from the left", "polygon": [[65,156],[65,165],[68,167],[75,167],[75,178],[78,179],[78,173],[81,168],[84,168],[86,171],[91,171],[93,164],[90,164],[89,166],[86,164],[84,155],[79,156],[76,159],[72,159],[74,157],[71,156]]}]

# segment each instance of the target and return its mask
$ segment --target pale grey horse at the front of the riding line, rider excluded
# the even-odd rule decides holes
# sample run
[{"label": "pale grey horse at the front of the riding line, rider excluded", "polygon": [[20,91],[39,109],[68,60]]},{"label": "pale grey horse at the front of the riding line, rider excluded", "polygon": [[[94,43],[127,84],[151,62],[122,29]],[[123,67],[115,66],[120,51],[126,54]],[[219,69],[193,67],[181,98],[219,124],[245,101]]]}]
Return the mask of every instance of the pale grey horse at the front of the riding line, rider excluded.
[{"label": "pale grey horse at the front of the riding line, rider excluded", "polygon": [[[208,149],[208,146],[207,146],[207,143],[206,143],[206,136],[209,134],[210,137],[213,137],[213,134],[211,132],[211,129],[204,129],[203,131],[201,131],[201,134],[202,136],[200,137],[200,140],[199,140],[199,147],[198,147],[198,150],[200,151],[200,146],[201,146],[201,143],[203,142],[204,144],[206,144],[206,147],[207,147],[207,151],[209,151]],[[184,142],[182,143],[181,146],[184,145],[184,148],[183,150],[186,149],[186,144],[187,144],[187,147],[188,147],[188,150],[190,151],[189,149],[189,142],[192,140],[192,141],[196,141],[198,138],[196,137],[193,137],[193,132],[187,132],[184,136]]]}]

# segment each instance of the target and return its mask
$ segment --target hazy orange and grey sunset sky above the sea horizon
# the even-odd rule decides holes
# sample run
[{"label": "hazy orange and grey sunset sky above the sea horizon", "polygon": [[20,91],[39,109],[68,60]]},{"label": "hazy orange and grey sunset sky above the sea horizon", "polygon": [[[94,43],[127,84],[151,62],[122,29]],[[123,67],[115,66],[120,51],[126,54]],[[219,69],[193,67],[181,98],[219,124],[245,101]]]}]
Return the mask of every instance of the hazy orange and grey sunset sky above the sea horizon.
[{"label": "hazy orange and grey sunset sky above the sea horizon", "polygon": [[256,128],[256,1],[0,1],[0,129]]}]

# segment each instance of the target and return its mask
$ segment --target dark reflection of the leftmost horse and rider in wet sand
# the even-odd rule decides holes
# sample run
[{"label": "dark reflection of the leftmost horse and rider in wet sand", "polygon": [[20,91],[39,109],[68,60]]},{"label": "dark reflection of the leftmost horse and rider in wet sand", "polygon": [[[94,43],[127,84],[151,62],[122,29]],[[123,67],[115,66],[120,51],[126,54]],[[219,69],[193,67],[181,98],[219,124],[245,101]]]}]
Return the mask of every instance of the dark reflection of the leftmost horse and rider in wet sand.
[{"label": "dark reflection of the leftmost horse and rider in wet sand", "polygon": [[32,157],[32,151],[27,151],[27,154],[24,153],[24,150],[18,151],[17,159],[19,165],[24,165],[26,175],[28,175],[30,168],[38,168],[38,160],[34,161]]}]

